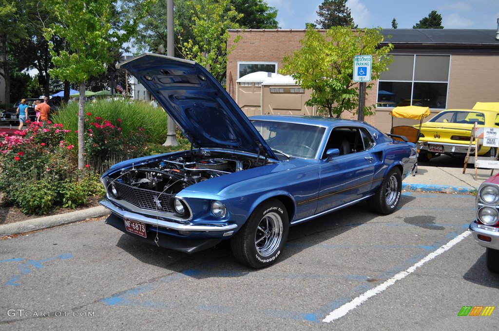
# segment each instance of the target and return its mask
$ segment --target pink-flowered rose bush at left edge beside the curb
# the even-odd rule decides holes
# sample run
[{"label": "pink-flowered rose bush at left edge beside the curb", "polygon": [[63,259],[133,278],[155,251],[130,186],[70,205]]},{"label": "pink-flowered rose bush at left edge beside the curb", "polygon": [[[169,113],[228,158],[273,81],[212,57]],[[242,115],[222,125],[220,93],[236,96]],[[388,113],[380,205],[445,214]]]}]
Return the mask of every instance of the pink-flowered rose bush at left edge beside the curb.
[{"label": "pink-flowered rose bush at left edge beside the curb", "polygon": [[60,124],[34,122],[16,136],[0,134],[0,191],[24,213],[45,214],[55,204],[74,208],[102,193],[96,176],[77,169],[68,132]]}]

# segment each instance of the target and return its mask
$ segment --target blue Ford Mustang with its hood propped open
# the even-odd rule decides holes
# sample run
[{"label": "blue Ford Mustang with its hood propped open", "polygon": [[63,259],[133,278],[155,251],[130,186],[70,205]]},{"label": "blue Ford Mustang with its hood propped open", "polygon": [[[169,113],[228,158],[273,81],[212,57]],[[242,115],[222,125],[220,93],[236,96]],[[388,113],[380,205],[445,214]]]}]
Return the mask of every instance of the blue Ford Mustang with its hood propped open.
[{"label": "blue Ford Mustang with its hood propped open", "polygon": [[159,246],[196,252],[230,240],[241,263],[274,263],[288,228],[367,200],[388,214],[417,151],[358,121],[246,117],[195,62],[143,54],[120,64],[189,138],[189,151],[134,159],[102,175],[106,222]]}]

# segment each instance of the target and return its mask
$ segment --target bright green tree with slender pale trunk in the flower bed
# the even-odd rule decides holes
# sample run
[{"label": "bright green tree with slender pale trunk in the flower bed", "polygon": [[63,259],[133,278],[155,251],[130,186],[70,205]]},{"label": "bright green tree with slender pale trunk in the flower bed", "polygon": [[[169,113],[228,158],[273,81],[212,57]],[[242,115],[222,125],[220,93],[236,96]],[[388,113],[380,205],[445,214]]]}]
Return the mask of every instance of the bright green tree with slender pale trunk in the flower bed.
[{"label": "bright green tree with slender pale trunk in the flower bed", "polygon": [[[55,22],[44,29],[54,63],[51,72],[60,79],[78,83],[80,95],[85,95],[86,81],[103,73],[106,64],[112,63],[113,53],[130,39],[140,16],[121,17],[119,22],[112,22],[113,17],[118,17],[114,14],[114,0],[48,1],[56,16]],[[145,9],[147,5],[145,1]],[[53,37],[65,40],[66,48],[57,53],[51,41]],[[80,98],[78,168],[84,166],[84,111],[84,98]]]}]

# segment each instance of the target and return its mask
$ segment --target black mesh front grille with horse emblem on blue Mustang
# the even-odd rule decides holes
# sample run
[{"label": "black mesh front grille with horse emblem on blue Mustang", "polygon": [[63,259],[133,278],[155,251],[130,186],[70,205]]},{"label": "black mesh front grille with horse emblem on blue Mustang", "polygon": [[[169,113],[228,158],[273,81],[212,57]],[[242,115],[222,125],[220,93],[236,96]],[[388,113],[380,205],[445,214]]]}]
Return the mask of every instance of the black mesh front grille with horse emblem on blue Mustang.
[{"label": "black mesh front grille with horse emblem on blue Mustang", "polygon": [[[139,208],[168,213],[173,212],[172,208],[170,208],[170,203],[168,203],[171,197],[170,194],[163,193],[160,196],[160,192],[133,187],[119,181],[115,181],[114,186],[121,199]],[[159,204],[157,201],[159,201]]]}]

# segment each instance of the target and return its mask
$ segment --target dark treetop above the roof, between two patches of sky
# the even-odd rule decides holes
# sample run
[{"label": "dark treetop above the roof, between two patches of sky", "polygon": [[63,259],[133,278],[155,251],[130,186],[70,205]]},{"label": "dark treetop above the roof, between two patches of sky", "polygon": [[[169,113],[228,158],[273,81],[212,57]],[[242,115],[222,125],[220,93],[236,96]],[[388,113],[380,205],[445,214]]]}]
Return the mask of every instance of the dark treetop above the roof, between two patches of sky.
[{"label": "dark treetop above the roof, between two patches of sky", "polygon": [[315,21],[323,29],[333,26],[348,26],[357,28],[350,14],[350,9],[346,6],[347,0],[324,0],[319,5],[317,15],[319,19]]}]

